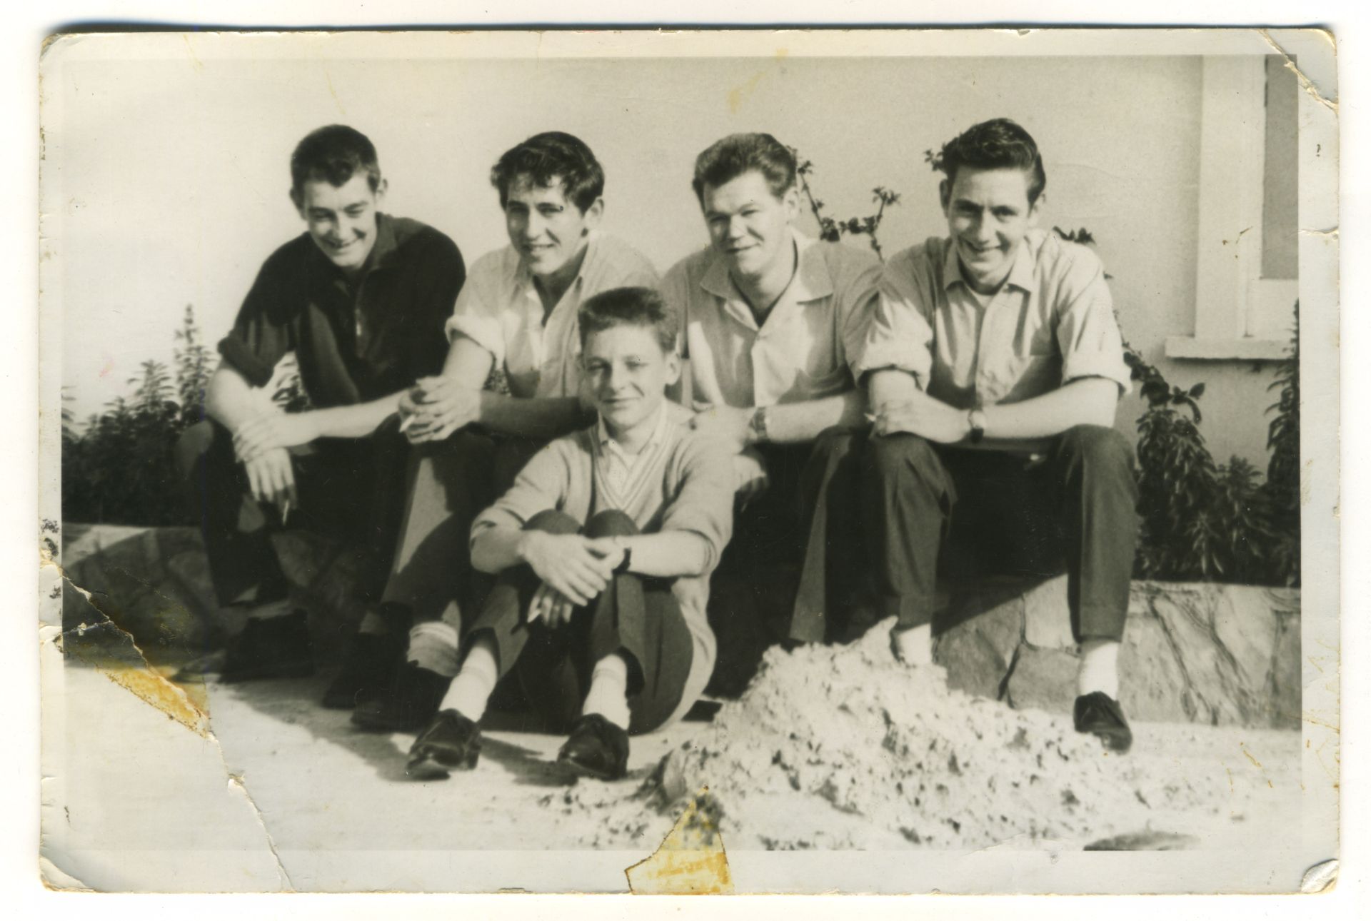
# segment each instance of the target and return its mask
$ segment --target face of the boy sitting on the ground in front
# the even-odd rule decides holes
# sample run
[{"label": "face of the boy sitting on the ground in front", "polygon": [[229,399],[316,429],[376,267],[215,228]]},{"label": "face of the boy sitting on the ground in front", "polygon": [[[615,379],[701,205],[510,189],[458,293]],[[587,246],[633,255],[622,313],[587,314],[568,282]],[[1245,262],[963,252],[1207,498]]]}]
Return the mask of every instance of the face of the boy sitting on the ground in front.
[{"label": "face of the boy sitting on the ground in front", "polygon": [[618,439],[651,421],[681,365],[676,352],[662,349],[651,328],[621,323],[587,336],[581,371],[605,426]]}]

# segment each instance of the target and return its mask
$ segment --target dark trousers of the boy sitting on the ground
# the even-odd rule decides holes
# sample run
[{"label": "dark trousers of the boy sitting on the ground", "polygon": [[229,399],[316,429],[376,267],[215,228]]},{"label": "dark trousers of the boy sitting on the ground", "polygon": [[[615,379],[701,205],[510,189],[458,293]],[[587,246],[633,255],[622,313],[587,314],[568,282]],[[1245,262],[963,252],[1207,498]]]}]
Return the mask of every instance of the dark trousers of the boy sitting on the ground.
[{"label": "dark trousers of the boy sitting on the ground", "polygon": [[[525,529],[588,537],[638,533],[621,511],[599,513],[584,530],[565,513],[543,511]],[[559,730],[580,715],[595,663],[618,652],[628,662],[628,730],[651,732],[666,722],[680,704],[694,656],[672,580],[620,573],[569,624],[555,628],[526,618],[539,584],[529,566],[502,573],[463,646],[488,630],[500,677],[514,672],[528,700]]]}]

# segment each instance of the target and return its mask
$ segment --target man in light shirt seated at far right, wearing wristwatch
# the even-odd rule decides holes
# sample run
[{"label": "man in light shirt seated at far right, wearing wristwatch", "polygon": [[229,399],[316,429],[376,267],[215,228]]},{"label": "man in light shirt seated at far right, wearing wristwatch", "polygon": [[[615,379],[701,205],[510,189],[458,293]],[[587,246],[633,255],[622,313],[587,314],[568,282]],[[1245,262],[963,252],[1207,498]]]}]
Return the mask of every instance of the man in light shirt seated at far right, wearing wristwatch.
[{"label": "man in light shirt seated at far right, wearing wristwatch", "polygon": [[1076,729],[1127,751],[1117,656],[1137,488],[1132,451],[1112,428],[1131,384],[1104,269],[1035,228],[1046,174],[1015,122],[972,126],[936,166],[949,234],[891,258],[858,363],[875,415],[868,514],[895,654],[931,661],[949,522],[949,547],[975,544],[1002,562],[1058,518],[1082,647]]}]

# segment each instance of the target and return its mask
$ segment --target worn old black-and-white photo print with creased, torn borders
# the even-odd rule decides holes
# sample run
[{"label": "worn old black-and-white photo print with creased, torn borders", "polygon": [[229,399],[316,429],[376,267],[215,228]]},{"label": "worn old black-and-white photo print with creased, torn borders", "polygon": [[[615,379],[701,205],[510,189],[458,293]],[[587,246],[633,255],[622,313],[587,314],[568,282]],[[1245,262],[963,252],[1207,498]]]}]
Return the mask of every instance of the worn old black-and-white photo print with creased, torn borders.
[{"label": "worn old black-and-white photo print with creased, torn borders", "polygon": [[1334,879],[1328,33],[40,77],[48,887]]}]

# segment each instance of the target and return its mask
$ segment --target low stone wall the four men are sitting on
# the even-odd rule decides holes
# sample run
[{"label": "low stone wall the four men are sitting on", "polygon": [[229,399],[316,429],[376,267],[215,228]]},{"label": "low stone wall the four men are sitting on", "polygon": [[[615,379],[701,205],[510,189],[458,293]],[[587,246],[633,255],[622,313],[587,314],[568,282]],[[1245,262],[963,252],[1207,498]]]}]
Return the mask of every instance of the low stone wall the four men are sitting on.
[{"label": "low stone wall the four men are sitting on", "polygon": [[[335,658],[362,604],[361,558],[302,532],[277,539],[321,661]],[[154,663],[207,655],[241,625],[219,609],[193,528],[71,525],[63,547],[63,624],[108,624]],[[1069,713],[1076,655],[1065,577],[1035,587],[988,581],[961,589],[935,624],[935,658],[954,688],[1015,707]],[[725,637],[721,637],[721,643]],[[733,637],[736,640],[742,639]],[[720,651],[721,667],[729,652]],[[744,656],[754,670],[761,658]],[[1246,585],[1134,582],[1120,656],[1120,699],[1132,720],[1300,725],[1300,592]],[[740,676],[740,685],[751,677]]]}]

